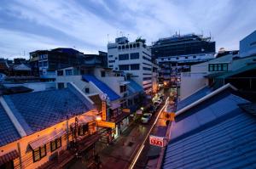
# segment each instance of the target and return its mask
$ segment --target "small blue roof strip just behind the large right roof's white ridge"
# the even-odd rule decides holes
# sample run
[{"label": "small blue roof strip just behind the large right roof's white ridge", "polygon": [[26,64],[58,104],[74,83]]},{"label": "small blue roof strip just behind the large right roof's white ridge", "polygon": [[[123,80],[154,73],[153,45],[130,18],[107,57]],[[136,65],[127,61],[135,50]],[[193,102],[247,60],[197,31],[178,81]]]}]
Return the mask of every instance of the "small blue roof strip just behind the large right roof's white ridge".
[{"label": "small blue roof strip just behind the large right roof's white ridge", "polygon": [[211,93],[212,89],[210,87],[203,87],[201,90],[190,95],[188,98],[181,100],[177,103],[177,110],[181,110],[189,104],[194,103],[196,100],[203,98],[208,93]]}]

